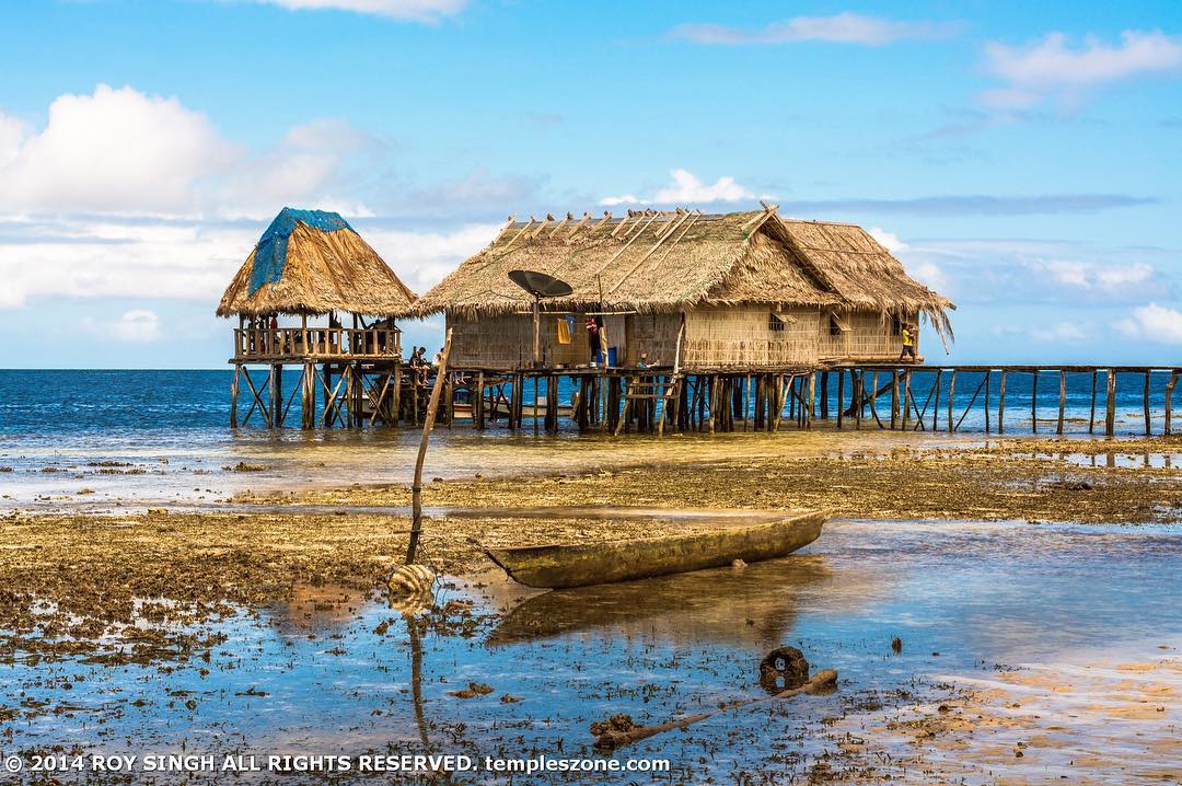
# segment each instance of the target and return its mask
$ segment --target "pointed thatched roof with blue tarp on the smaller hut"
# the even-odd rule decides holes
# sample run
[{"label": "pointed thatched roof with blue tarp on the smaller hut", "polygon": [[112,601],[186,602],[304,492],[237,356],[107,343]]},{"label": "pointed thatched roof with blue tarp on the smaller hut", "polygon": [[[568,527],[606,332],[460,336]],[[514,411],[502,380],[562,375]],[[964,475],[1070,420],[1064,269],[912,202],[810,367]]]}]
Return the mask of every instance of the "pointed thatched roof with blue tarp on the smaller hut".
[{"label": "pointed thatched roof with blue tarp on the smaller hut", "polygon": [[230,285],[219,317],[411,313],[415,293],[336,213],[284,208]]}]

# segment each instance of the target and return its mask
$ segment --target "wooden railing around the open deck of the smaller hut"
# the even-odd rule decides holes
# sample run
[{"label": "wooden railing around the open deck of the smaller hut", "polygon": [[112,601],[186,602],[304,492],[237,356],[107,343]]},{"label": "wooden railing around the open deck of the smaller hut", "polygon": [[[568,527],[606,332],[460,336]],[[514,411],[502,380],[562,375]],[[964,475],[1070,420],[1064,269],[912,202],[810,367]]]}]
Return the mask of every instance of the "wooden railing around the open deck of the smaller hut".
[{"label": "wooden railing around the open deck of the smaller hut", "polygon": [[397,357],[398,329],[239,327],[234,330],[235,358]]}]

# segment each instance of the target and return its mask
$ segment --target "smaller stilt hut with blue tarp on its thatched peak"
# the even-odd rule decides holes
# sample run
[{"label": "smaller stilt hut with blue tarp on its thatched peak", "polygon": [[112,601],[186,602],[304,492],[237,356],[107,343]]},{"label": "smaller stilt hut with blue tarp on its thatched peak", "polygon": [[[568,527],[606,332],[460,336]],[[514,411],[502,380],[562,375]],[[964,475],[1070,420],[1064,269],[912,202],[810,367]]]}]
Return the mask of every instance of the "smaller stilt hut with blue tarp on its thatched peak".
[{"label": "smaller stilt hut with blue tarp on its thatched peak", "polygon": [[[395,319],[410,314],[415,299],[339,214],[285,207],[217,306],[219,317],[238,317],[230,426],[239,424],[243,382],[251,394],[243,424],[258,411],[267,426],[282,426],[297,391],[304,428],[392,423],[402,368]],[[259,384],[251,365],[267,368]],[[285,365],[300,370],[290,392]]]}]

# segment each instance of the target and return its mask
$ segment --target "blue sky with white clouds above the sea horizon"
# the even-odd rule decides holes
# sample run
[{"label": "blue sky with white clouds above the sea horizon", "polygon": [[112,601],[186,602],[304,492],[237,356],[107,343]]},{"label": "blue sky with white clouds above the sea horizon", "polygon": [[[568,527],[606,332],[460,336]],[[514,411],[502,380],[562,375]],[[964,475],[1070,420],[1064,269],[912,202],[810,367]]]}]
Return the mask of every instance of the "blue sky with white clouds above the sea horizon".
[{"label": "blue sky with white clouds above the sea horizon", "polygon": [[44,0],[0,69],[0,368],[226,368],[284,206],[423,293],[509,214],[759,200],[952,298],[929,362],[1182,360],[1176,0]]}]

